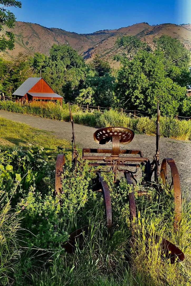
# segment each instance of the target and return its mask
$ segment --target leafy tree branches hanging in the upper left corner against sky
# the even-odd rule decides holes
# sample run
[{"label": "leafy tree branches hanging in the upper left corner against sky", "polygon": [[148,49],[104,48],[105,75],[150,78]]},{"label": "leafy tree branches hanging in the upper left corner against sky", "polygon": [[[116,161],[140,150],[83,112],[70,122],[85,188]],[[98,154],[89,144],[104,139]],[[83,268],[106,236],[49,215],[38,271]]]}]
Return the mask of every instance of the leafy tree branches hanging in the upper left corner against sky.
[{"label": "leafy tree branches hanging in the upper left corner against sky", "polygon": [[[18,7],[21,8],[22,4],[16,0],[0,0],[0,31],[3,31],[4,27],[9,29],[15,26],[15,15],[5,9],[5,7]],[[0,37],[0,52],[6,49],[13,50],[14,48],[14,34],[11,31],[5,31]]]}]

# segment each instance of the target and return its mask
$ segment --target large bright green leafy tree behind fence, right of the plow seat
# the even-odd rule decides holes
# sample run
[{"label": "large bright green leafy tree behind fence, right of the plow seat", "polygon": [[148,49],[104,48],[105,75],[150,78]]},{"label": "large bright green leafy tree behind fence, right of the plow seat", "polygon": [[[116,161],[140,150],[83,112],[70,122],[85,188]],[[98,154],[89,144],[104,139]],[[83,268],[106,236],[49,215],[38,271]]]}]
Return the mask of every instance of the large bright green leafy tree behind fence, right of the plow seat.
[{"label": "large bright green leafy tree behind fence, right of the plow seat", "polygon": [[186,97],[186,88],[167,76],[162,51],[140,50],[132,61],[124,58],[121,64],[116,94],[125,96],[127,108],[154,115],[159,100],[161,114],[171,116],[177,113],[180,102]]}]

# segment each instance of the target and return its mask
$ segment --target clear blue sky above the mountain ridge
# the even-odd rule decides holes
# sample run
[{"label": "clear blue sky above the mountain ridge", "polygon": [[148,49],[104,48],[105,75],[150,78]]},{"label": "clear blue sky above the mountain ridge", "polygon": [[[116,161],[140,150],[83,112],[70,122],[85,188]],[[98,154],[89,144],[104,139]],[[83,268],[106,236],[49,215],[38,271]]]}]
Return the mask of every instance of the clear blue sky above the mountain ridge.
[{"label": "clear blue sky above the mountain ridge", "polygon": [[135,23],[191,23],[191,0],[20,0],[17,21],[76,33],[117,29]]}]

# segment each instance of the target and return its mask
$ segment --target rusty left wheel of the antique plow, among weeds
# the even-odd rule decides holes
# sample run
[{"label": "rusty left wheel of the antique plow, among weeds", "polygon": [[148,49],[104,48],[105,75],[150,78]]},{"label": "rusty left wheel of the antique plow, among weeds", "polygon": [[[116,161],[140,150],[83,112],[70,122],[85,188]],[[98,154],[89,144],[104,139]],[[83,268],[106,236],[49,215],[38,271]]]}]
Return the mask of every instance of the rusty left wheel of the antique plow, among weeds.
[{"label": "rusty left wheel of the antique plow, among weeds", "polygon": [[56,159],[56,170],[55,170],[55,195],[62,192],[62,180],[63,166],[65,165],[65,155],[58,154]]}]

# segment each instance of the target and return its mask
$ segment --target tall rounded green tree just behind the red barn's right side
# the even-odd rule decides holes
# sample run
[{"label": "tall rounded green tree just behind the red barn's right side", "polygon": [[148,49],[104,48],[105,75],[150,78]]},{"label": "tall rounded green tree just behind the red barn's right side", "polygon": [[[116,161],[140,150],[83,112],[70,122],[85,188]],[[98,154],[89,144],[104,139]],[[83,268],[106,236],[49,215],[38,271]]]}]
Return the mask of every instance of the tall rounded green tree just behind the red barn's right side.
[{"label": "tall rounded green tree just behind the red barn's right side", "polygon": [[72,101],[79,94],[86,73],[84,59],[67,45],[54,44],[50,49],[47,65],[42,69],[44,79],[53,90]]}]

